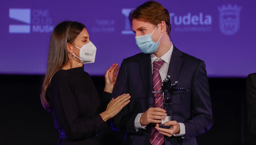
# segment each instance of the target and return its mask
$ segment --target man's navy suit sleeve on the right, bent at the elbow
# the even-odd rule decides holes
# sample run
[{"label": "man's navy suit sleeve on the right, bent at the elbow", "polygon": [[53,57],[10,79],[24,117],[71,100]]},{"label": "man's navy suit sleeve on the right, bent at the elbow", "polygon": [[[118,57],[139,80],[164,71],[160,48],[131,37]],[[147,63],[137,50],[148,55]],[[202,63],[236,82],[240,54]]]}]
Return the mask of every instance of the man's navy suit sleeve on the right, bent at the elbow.
[{"label": "man's navy suit sleeve on the right, bent at the elbow", "polygon": [[187,141],[211,128],[213,125],[212,105],[205,63],[201,61],[194,73],[191,88],[192,116],[183,123]]}]

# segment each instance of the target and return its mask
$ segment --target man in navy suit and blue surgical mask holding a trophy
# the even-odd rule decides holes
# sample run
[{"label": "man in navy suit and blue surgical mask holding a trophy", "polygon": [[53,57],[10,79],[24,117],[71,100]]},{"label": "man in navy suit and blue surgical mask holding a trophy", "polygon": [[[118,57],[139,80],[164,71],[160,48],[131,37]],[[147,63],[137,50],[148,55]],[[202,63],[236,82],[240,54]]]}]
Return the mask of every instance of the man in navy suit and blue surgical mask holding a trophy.
[{"label": "man in navy suit and blue surgical mask holding a trophy", "polygon": [[[170,41],[170,15],[159,3],[148,1],[129,15],[136,43],[143,53],[123,60],[112,96],[129,93],[130,103],[114,118],[117,129],[126,130],[125,144],[196,145],[195,137],[213,124],[209,84],[204,61],[185,54]],[[196,46],[194,46],[196,47]],[[191,48],[193,49],[193,48]],[[161,80],[178,81],[173,95],[171,121],[163,107]]]}]

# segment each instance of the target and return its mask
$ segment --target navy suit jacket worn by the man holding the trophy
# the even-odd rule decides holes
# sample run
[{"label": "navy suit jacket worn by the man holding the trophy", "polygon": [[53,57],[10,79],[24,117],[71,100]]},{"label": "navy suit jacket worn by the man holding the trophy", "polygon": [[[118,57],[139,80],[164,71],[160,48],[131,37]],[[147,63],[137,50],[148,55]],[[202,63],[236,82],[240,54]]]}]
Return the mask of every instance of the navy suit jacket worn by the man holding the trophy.
[{"label": "navy suit jacket worn by the man holding the trophy", "polygon": [[[165,136],[166,145],[196,145],[195,137],[213,125],[212,106],[205,63],[173,48],[168,73],[177,88],[188,91],[173,93],[172,120],[183,122],[186,134]],[[125,130],[124,144],[148,145],[152,124],[136,131],[134,120],[138,113],[153,107],[153,79],[150,54],[139,53],[123,60],[112,97],[129,93],[130,103],[114,117],[114,127]]]}]

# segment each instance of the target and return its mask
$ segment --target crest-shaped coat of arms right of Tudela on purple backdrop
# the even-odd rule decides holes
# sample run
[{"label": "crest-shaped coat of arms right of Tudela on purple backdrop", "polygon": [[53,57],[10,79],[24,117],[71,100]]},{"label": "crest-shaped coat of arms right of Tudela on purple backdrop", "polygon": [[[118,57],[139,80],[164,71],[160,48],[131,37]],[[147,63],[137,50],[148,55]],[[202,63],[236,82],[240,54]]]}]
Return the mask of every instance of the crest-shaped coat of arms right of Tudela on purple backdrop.
[{"label": "crest-shaped coat of arms right of Tudela on purple backdrop", "polygon": [[241,6],[228,4],[218,7],[219,10],[219,28],[226,35],[237,33],[240,26]]}]

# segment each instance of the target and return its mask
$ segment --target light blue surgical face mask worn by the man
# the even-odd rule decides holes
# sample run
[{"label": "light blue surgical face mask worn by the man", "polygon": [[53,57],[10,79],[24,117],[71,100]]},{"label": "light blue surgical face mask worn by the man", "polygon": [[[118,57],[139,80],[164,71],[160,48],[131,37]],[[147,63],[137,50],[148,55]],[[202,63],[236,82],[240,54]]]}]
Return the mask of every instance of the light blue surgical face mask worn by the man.
[{"label": "light blue surgical face mask worn by the man", "polygon": [[[158,27],[158,25],[156,26],[156,28]],[[156,30],[156,28],[153,30],[153,32]],[[148,54],[148,53],[154,53],[157,51],[158,49],[158,46],[159,46],[159,40],[162,36],[162,34],[160,35],[160,38],[158,39],[157,42],[154,42],[152,40],[152,34],[147,34],[147,35],[141,35],[141,36],[137,36],[135,37],[136,39],[136,44],[138,45],[139,49],[145,53],[145,54]]]}]

